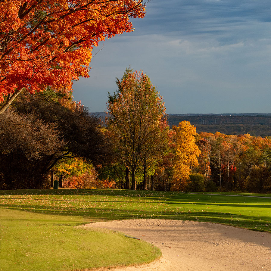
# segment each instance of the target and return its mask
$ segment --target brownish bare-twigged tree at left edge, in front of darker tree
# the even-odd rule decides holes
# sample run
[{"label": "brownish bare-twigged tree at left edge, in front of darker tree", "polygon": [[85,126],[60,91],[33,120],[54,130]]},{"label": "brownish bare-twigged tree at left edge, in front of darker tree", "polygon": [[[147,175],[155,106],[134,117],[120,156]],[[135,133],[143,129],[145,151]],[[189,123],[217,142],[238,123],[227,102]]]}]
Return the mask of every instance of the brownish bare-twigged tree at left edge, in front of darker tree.
[{"label": "brownish bare-twigged tree at left edge, in front of darker tree", "polygon": [[12,110],[0,118],[1,189],[45,188],[44,165],[65,142],[54,124]]}]

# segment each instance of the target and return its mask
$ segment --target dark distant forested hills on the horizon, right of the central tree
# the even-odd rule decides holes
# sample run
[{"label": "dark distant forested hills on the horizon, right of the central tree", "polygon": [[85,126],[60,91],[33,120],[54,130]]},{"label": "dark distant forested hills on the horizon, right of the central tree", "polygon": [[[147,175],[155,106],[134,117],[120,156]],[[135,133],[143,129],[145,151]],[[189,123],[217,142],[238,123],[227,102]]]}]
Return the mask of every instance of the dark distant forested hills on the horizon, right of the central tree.
[{"label": "dark distant forested hills on the horizon, right of the central tree", "polygon": [[168,114],[170,127],[187,120],[197,132],[220,132],[227,135],[271,136],[271,114]]}]

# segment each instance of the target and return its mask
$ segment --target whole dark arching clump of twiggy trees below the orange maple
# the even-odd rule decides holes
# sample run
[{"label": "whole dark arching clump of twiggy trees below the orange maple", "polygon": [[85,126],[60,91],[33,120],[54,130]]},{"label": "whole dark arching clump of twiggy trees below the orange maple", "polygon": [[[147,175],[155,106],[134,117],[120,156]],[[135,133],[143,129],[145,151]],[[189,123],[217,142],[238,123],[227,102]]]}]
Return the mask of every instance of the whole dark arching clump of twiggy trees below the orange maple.
[{"label": "whole dark arching clump of twiggy trees below the orange maple", "polygon": [[95,166],[111,160],[111,143],[86,107],[72,110],[44,95],[28,98],[16,101],[15,115],[8,109],[0,118],[6,188],[44,188],[46,175],[65,158]]}]

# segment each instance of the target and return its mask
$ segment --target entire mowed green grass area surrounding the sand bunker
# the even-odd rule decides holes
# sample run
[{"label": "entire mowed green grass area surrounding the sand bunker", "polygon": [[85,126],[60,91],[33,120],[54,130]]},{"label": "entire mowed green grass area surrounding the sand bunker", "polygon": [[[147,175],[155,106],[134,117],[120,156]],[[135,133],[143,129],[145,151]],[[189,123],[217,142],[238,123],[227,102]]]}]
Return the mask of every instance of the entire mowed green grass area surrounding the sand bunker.
[{"label": "entire mowed green grass area surrounding the sand bunker", "polygon": [[194,220],[271,232],[271,195],[264,196],[85,189],[2,191],[0,270],[76,270],[141,263],[160,255],[153,246],[113,231],[75,227],[97,221]]}]

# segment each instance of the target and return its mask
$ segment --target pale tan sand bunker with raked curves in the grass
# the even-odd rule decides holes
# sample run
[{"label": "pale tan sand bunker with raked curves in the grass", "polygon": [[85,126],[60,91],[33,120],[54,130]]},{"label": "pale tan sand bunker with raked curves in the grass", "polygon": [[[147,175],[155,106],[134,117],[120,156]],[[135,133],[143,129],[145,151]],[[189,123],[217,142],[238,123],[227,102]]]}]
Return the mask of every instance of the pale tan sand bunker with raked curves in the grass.
[{"label": "pale tan sand bunker with raked curves in the grass", "polygon": [[[114,271],[271,271],[271,234],[214,223],[139,219],[85,225],[140,238],[162,251],[150,264]],[[109,270],[109,269],[108,269]]]}]

